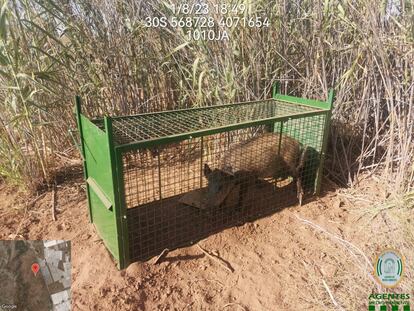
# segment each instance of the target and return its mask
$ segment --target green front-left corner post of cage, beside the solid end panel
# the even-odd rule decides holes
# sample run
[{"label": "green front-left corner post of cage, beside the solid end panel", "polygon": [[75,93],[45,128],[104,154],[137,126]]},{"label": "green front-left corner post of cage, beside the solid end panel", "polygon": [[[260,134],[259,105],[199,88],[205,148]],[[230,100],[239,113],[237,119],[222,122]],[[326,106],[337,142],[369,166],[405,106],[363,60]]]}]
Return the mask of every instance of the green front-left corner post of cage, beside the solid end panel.
[{"label": "green front-left corner post of cage, beside the solid end panel", "polygon": [[128,265],[128,231],[126,228],[126,208],[123,200],[123,167],[122,153],[115,147],[113,138],[112,118],[104,117],[105,131],[109,147],[109,159],[113,180],[114,217],[118,242],[118,268],[124,269]]}]

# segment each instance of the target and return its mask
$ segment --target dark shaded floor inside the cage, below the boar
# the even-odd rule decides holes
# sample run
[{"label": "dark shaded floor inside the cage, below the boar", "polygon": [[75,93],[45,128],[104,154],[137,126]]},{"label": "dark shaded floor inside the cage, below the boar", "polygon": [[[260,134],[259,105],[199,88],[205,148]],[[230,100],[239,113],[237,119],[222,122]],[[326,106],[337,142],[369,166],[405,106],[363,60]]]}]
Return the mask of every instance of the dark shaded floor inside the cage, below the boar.
[{"label": "dark shaded floor inside the cage, below the boar", "polygon": [[[143,261],[164,249],[191,245],[211,234],[296,205],[296,186],[274,189],[264,182],[252,187],[240,207],[222,204],[207,210],[180,203],[177,195],[127,211],[130,261]],[[266,197],[266,200],[257,198]]]}]

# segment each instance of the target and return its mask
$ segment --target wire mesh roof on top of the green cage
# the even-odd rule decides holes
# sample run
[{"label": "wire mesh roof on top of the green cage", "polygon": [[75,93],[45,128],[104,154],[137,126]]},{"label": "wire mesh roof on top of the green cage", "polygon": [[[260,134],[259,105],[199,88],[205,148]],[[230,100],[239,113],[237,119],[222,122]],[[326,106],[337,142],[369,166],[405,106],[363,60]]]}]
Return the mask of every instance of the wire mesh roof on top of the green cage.
[{"label": "wire mesh roof on top of the green cage", "polygon": [[[113,119],[112,124],[115,143],[121,145],[312,111],[318,111],[318,109],[269,99],[260,102],[118,117]],[[103,128],[102,120],[94,122]]]}]

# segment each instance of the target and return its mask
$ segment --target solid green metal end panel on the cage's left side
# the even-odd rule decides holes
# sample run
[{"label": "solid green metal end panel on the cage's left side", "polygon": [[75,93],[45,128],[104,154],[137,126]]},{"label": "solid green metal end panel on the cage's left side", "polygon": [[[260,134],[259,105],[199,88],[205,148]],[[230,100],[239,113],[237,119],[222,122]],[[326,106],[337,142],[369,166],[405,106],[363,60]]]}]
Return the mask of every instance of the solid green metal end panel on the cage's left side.
[{"label": "solid green metal end panel on the cage's left side", "polygon": [[109,210],[102,202],[101,193],[96,193],[89,187],[91,219],[103,239],[105,245],[119,262],[121,259],[119,234],[116,218],[116,197],[114,192],[113,171],[110,158],[110,147],[107,133],[90,122],[87,117],[80,115],[84,155],[88,167],[88,177],[93,178],[105,197],[113,204]]}]

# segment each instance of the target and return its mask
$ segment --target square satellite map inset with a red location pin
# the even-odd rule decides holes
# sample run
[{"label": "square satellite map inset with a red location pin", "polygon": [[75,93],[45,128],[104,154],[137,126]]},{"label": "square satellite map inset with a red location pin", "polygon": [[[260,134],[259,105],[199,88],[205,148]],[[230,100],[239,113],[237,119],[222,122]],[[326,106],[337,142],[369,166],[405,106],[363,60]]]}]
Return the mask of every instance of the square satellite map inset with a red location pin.
[{"label": "square satellite map inset with a red location pin", "polygon": [[0,241],[0,311],[70,311],[70,242]]}]

